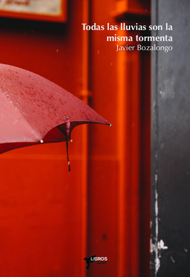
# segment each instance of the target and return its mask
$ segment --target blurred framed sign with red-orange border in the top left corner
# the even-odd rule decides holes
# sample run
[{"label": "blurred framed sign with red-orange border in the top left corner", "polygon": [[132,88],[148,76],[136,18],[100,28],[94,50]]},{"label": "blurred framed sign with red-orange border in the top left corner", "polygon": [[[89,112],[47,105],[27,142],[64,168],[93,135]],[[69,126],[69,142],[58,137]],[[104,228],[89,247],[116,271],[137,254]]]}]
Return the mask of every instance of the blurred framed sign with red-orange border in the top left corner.
[{"label": "blurred framed sign with red-orange border in the top left corner", "polygon": [[0,16],[65,22],[67,0],[0,0]]}]

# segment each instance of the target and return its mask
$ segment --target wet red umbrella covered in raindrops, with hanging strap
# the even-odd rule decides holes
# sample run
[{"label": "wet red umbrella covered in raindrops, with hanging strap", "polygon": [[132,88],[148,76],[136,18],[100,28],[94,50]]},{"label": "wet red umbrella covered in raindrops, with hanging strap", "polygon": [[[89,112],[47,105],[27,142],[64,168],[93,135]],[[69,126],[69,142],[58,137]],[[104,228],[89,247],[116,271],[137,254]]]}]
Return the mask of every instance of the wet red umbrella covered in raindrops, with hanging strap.
[{"label": "wet red umbrella covered in raindrops, with hanging strap", "polygon": [[68,142],[72,129],[84,123],[111,126],[83,101],[47,79],[0,64],[0,153],[43,142]]}]

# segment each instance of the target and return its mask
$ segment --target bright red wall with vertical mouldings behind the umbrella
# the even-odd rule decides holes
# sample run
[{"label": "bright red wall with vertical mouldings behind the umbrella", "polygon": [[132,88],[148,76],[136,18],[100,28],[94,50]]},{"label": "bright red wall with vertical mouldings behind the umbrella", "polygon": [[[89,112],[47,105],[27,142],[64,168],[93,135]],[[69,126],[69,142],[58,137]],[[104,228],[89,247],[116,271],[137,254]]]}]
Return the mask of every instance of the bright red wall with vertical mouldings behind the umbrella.
[{"label": "bright red wall with vertical mouldings behind the umbrella", "polygon": [[[90,9],[92,23],[117,24],[114,0]],[[134,9],[145,10],[139,1]],[[65,143],[0,155],[1,277],[148,276],[149,56],[116,53],[106,32],[82,32],[84,10],[69,1],[66,24],[0,18],[0,63],[78,97],[87,86],[91,106],[112,123],[74,129],[71,172]],[[107,265],[87,272],[90,255]]]}]

